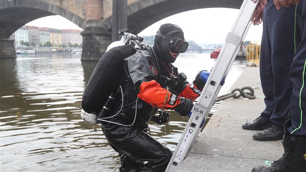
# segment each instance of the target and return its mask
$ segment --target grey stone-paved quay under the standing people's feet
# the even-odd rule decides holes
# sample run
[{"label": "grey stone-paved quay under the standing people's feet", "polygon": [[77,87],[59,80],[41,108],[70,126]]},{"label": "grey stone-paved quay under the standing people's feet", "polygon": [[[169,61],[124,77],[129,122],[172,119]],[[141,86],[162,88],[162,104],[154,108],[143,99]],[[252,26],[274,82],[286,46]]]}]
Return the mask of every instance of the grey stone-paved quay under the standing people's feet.
[{"label": "grey stone-paved quay under the standing people's feet", "polygon": [[265,108],[259,67],[246,67],[229,92],[243,86],[253,87],[256,98],[222,101],[177,171],[251,172],[253,167],[269,166],[283,155],[282,140],[256,141],[252,138],[256,131],[241,127]]}]

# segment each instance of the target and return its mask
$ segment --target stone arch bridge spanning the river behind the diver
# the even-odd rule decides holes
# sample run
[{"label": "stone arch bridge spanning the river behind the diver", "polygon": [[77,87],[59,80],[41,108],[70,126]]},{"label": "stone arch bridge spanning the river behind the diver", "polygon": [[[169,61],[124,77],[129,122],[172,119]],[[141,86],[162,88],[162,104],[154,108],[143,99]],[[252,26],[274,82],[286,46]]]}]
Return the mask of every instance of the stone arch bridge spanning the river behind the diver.
[{"label": "stone arch bridge spanning the river behind the diver", "polygon": [[99,60],[119,28],[138,34],[156,21],[201,8],[240,8],[243,0],[0,0],[0,58],[16,57],[11,34],[26,23],[60,15],[82,29],[81,60]]}]

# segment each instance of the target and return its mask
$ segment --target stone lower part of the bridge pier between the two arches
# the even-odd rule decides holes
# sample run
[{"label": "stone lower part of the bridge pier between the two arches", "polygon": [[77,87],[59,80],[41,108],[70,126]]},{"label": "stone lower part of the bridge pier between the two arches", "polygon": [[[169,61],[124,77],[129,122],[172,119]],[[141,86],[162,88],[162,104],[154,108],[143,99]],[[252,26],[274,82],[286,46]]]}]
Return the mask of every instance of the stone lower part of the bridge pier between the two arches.
[{"label": "stone lower part of the bridge pier between the two arches", "polygon": [[83,36],[83,50],[81,61],[99,61],[106,52],[112,40],[112,33],[106,31],[99,23],[101,21],[87,21],[87,27],[81,33]]}]

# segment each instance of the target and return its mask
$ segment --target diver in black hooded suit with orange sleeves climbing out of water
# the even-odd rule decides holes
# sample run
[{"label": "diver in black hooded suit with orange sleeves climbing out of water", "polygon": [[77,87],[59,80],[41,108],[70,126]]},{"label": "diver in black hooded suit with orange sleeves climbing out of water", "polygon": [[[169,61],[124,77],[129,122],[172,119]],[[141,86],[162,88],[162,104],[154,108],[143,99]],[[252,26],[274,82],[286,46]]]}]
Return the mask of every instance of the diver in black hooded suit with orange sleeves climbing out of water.
[{"label": "diver in black hooded suit with orange sleeves climbing out of water", "polygon": [[209,72],[200,71],[189,84],[186,75],[172,65],[187,47],[182,29],[167,23],[157,31],[153,47],[125,59],[125,72],[117,85],[113,83],[114,87],[122,87],[122,97],[117,98],[115,110],[102,114],[113,116],[102,122],[102,131],[120,155],[121,172],[166,170],[172,153],[146,133],[148,121],[158,109],[172,109],[187,116],[209,76]]}]

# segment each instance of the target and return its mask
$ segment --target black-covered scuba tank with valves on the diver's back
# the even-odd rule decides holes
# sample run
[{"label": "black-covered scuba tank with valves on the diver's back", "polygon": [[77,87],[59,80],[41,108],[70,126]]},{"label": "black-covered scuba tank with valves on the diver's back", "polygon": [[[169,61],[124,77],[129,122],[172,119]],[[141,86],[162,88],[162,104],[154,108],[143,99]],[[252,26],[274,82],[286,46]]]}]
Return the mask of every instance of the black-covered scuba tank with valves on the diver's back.
[{"label": "black-covered scuba tank with valves on the diver's back", "polygon": [[[107,47],[85,87],[81,118],[88,124],[98,123],[98,114],[103,107],[109,110],[107,107],[110,106],[108,99],[112,97],[111,93],[117,92],[114,84],[117,83],[123,72],[123,59],[134,54],[136,49],[147,46],[142,44],[143,38],[131,34],[129,29],[125,29],[124,32],[119,29],[118,34],[121,35],[120,41],[115,41]],[[132,42],[135,47],[131,45]]]}]

